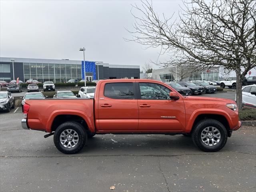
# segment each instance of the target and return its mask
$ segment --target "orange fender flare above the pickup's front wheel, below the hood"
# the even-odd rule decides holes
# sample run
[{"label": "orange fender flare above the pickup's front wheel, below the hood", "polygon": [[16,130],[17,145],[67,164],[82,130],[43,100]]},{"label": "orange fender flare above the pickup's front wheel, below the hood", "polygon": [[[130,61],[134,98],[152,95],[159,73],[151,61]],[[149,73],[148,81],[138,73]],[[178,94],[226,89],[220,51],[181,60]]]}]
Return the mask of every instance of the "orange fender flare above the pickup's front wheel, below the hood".
[{"label": "orange fender flare above the pickup's front wheel, below the hood", "polygon": [[230,127],[232,126],[232,119],[226,111],[220,110],[220,109],[203,108],[203,109],[194,110],[194,112],[191,114],[191,116],[188,120],[188,124],[186,126],[185,132],[191,132],[196,118],[199,115],[204,115],[204,114],[224,116],[226,118],[226,120],[228,121],[229,126]]}]

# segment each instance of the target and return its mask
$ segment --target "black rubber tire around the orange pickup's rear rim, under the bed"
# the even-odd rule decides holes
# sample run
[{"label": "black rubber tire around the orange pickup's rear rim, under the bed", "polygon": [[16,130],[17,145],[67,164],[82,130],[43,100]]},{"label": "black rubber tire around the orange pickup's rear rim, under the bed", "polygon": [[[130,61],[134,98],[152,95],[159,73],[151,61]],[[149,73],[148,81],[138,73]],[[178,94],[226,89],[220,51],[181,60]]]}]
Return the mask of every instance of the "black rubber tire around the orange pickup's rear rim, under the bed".
[{"label": "black rubber tire around the orange pickup's rear rim, under the bed", "polygon": [[[76,146],[72,148],[64,147],[60,142],[60,134],[62,134],[62,132],[66,129],[72,129],[76,131],[78,134],[78,143],[76,144]],[[85,128],[81,124],[77,122],[65,122],[65,123],[62,123],[60,126],[58,126],[58,128],[54,133],[53,140],[54,140],[54,145],[60,152],[64,154],[75,154],[79,152],[86,144],[87,133]]]}]

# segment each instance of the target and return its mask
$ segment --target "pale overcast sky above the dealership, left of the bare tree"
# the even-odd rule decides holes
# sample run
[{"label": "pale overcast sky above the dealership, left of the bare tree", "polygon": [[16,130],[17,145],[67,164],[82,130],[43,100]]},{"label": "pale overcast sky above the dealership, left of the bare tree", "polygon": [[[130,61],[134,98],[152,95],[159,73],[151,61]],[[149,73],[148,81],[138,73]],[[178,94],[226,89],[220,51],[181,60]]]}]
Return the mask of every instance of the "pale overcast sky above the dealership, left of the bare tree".
[{"label": "pale overcast sky above the dealership, left of the bare tree", "polygon": [[[140,66],[156,61],[159,49],[145,50],[123,39],[131,37],[125,28],[132,29],[134,3],[141,4],[131,0],[1,0],[0,56],[82,60],[78,49],[85,46],[86,60]],[[154,9],[166,16],[177,13],[179,4],[182,1],[153,1]]]}]

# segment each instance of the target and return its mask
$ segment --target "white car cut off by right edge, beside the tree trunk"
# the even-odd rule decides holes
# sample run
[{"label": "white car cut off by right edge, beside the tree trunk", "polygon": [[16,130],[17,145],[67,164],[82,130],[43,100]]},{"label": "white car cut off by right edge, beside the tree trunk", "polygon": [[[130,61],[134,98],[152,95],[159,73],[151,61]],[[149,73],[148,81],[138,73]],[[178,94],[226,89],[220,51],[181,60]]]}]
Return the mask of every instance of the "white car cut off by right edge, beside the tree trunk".
[{"label": "white car cut off by right edge, beside the tree trunk", "polygon": [[256,108],[256,84],[242,88],[242,105]]}]

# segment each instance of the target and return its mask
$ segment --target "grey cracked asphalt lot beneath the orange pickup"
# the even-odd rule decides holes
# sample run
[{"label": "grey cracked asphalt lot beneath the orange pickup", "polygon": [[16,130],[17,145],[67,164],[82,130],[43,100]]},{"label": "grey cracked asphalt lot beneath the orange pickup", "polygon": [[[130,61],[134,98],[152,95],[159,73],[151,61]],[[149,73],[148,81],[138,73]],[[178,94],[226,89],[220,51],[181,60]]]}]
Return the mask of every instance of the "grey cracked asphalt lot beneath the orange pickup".
[{"label": "grey cracked asphalt lot beneath the orange pickup", "polygon": [[[222,97],[230,95],[234,92]],[[233,132],[214,153],[200,151],[181,135],[108,134],[65,155],[52,136],[23,130],[23,114],[15,110],[0,112],[1,192],[256,191],[256,126]]]}]

